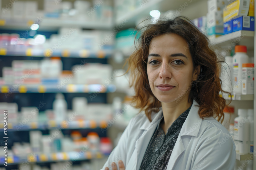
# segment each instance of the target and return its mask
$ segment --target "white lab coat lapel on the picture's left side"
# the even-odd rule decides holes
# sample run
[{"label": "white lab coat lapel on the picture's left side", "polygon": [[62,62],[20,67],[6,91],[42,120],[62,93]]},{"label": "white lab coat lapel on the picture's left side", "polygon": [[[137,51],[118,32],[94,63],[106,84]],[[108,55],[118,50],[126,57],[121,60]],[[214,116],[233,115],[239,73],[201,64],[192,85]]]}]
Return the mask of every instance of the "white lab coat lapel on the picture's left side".
[{"label": "white lab coat lapel on the picture's left side", "polygon": [[[136,160],[136,162],[132,162],[135,164],[134,167],[136,167],[136,170],[140,169],[141,162],[143,160],[144,154],[147,150],[148,144],[153,136],[153,133],[163,115],[162,108],[159,110],[158,113],[155,113],[153,115],[153,120],[150,122],[147,120],[144,122],[144,124],[140,127],[140,134],[138,135],[138,139],[135,143],[135,151],[133,152],[133,156],[135,158],[132,158],[133,160]],[[135,168],[133,168],[135,169]]]}]

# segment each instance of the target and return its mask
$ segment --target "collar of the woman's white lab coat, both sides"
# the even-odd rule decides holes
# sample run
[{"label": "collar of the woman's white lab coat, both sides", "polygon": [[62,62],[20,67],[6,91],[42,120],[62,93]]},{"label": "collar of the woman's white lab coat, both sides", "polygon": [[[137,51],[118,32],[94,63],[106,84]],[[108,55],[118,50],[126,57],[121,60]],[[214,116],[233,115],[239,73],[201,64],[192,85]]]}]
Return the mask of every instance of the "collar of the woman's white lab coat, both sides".
[{"label": "collar of the woman's white lab coat, both sides", "polygon": [[[196,102],[195,99],[193,99],[193,104],[189,110],[188,116],[180,130],[180,136],[189,135],[189,136],[195,136],[197,137],[199,133],[199,129],[202,123],[202,119],[198,115],[199,110],[199,104]],[[152,122],[150,122],[148,119],[143,123],[143,125],[140,127],[142,130],[147,130],[150,127],[154,127],[154,125],[157,125],[163,115],[162,107],[157,113],[152,112],[151,118],[153,119]]]}]

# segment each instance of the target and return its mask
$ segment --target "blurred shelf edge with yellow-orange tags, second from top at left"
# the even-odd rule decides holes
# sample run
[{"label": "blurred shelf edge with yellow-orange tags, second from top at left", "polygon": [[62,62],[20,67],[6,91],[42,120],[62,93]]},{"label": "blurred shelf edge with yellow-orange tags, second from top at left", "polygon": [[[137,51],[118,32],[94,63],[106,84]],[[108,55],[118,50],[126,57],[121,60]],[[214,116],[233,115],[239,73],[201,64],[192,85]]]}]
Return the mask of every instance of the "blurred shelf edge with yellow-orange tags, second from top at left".
[{"label": "blurred shelf edge with yellow-orange tags, second from top at left", "polygon": [[51,50],[51,49],[33,49],[27,48],[22,51],[15,49],[0,48],[0,55],[2,56],[33,56],[33,57],[73,57],[73,58],[109,58],[113,54],[113,50]]}]

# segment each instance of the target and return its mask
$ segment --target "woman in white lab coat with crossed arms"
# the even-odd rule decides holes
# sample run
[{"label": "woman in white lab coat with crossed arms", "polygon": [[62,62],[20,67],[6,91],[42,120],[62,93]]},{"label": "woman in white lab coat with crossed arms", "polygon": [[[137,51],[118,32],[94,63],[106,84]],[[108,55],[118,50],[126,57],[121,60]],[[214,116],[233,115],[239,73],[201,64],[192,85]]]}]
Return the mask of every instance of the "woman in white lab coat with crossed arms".
[{"label": "woman in white lab coat with crossed arms", "polygon": [[219,92],[228,92],[208,38],[185,17],[141,29],[128,70],[132,102],[145,113],[131,119],[102,170],[233,170],[235,144],[219,122],[227,105]]}]

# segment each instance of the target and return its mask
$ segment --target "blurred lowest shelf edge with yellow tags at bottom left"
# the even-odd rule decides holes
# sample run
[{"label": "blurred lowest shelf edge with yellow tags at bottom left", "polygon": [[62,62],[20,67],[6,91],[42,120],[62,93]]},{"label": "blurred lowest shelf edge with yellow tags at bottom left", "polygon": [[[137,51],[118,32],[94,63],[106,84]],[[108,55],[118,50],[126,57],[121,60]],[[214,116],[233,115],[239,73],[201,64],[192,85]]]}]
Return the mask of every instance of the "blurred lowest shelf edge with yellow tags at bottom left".
[{"label": "blurred lowest shelf edge with yellow tags at bottom left", "polygon": [[[87,149],[87,148],[85,148]],[[81,150],[82,151],[82,150]],[[45,163],[45,162],[59,162],[59,161],[83,161],[91,159],[101,159],[105,155],[101,152],[93,153],[91,151],[84,150],[83,152],[56,152],[48,154],[29,154],[26,156],[12,156],[8,157],[7,165],[20,164],[20,163]],[[0,165],[4,165],[4,158],[0,158]]]}]

